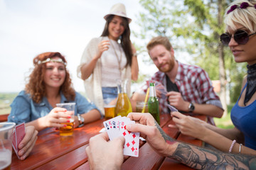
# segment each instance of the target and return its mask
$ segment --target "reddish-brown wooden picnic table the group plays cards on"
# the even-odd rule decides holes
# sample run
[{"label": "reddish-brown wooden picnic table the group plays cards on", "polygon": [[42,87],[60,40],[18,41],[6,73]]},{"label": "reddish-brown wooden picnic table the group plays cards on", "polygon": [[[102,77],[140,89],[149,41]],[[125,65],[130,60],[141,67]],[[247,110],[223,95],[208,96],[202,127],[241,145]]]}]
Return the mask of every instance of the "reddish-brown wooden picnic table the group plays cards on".
[{"label": "reddish-brown wooden picnic table the group plays cards on", "polygon": [[[196,118],[206,120],[204,115]],[[87,162],[85,148],[90,137],[99,134],[104,128],[105,119],[76,128],[72,136],[61,137],[58,130],[46,129],[38,133],[38,140],[33,151],[25,160],[21,161],[12,155],[11,169],[90,169]],[[193,145],[202,146],[203,142],[193,137],[182,135],[178,130],[169,128],[174,124],[171,116],[161,115],[160,125],[171,137]],[[174,159],[161,157],[144,142],[139,148],[139,157],[129,157],[122,164],[122,169],[191,169],[176,162]]]}]

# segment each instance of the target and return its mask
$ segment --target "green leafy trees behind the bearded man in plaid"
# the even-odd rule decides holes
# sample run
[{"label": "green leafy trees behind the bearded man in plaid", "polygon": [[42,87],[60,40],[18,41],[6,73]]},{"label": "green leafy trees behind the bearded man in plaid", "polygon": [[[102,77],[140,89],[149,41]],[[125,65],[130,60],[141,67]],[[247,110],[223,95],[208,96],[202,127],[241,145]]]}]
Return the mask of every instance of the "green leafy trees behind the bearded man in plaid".
[{"label": "green leafy trees behind the bearded man in plaid", "polygon": [[[227,111],[225,88],[229,81],[225,73],[233,70],[233,55],[223,47],[219,36],[225,32],[223,16],[230,1],[140,0],[139,3],[144,11],[139,13],[138,25],[142,31],[135,33],[137,38],[149,42],[154,36],[164,35],[170,39],[175,51],[188,52],[193,57],[191,64],[205,69],[210,79],[220,79],[220,101]],[[240,77],[235,82],[241,82]],[[235,76],[231,78],[235,80]]]}]

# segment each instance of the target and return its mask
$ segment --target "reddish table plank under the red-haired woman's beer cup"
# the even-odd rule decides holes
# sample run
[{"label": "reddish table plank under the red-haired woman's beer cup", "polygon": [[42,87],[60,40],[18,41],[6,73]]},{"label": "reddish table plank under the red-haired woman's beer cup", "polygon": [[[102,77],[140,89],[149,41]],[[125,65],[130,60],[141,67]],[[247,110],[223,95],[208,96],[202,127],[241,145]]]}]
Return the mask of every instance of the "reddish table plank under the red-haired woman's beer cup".
[{"label": "reddish table plank under the red-haired woman's beer cup", "polygon": [[85,125],[74,130],[72,136],[60,137],[59,132],[50,132],[38,137],[36,147],[33,148],[29,157],[21,161],[13,154],[11,169],[36,169],[39,166],[51,162],[68,152],[87,145],[90,137],[97,135],[103,128],[102,120]]}]

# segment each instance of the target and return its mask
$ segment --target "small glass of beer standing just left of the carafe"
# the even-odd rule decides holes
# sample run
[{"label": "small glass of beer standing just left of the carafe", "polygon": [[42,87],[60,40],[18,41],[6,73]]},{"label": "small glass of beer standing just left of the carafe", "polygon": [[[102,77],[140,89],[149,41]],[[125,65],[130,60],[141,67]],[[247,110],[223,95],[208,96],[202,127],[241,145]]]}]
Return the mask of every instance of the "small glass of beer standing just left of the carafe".
[{"label": "small glass of beer standing just left of the carafe", "polygon": [[114,109],[115,109],[116,98],[105,98],[104,99],[104,111],[105,119],[114,118]]}]

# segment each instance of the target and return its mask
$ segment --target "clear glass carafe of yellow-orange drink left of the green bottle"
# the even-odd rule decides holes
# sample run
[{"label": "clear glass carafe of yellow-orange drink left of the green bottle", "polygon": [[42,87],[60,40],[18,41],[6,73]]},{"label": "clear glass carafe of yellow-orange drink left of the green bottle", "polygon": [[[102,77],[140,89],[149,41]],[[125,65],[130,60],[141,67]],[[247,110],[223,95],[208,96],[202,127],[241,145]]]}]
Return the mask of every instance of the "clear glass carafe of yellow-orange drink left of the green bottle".
[{"label": "clear glass carafe of yellow-orange drink left of the green bottle", "polygon": [[117,81],[118,96],[116,108],[114,110],[114,117],[116,117],[117,115],[127,116],[129,113],[132,112],[131,101],[127,96],[127,82],[127,79],[123,81]]}]

